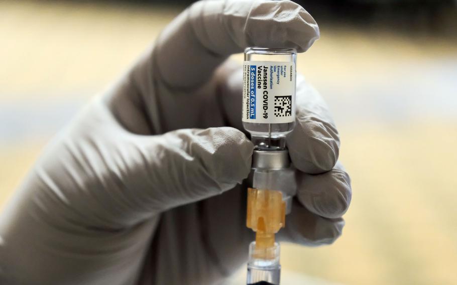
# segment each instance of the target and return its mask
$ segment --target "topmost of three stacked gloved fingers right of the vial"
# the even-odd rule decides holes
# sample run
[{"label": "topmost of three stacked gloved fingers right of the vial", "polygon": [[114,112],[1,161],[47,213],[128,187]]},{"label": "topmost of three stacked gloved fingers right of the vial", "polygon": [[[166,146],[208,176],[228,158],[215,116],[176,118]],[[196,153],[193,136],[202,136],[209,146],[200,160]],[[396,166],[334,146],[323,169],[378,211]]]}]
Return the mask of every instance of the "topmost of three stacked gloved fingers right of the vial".
[{"label": "topmost of three stacked gloved fingers right of the vial", "polygon": [[295,128],[287,136],[294,166],[305,173],[329,171],[338,161],[339,135],[318,92],[297,76]]}]

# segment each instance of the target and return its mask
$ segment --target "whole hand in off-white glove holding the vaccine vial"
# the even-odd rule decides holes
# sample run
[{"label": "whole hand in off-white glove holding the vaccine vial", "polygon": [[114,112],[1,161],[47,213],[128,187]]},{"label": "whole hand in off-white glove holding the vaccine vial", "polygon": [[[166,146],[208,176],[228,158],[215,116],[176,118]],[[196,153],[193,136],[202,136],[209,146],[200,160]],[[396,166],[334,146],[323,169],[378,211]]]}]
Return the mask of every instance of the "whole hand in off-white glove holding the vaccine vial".
[{"label": "whole hand in off-white glove holding the vaccine vial", "polygon": [[[46,147],[0,220],[2,284],[207,284],[247,258],[253,145],[241,128],[248,46],[307,50],[290,1],[198,2]],[[322,99],[297,80],[287,138],[297,196],[280,239],[328,244],[351,200]],[[228,127],[230,126],[230,127]],[[208,128],[209,127],[209,128]]]}]

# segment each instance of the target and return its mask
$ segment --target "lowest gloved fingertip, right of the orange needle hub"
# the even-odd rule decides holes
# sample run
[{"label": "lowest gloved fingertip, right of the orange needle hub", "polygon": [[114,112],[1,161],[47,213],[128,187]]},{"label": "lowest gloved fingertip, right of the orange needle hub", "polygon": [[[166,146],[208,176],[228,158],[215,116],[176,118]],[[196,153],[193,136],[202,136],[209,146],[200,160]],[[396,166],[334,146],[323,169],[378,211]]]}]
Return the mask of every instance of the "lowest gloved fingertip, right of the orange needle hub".
[{"label": "lowest gloved fingertip, right of the orange needle hub", "polygon": [[306,246],[331,244],[341,235],[344,226],[342,218],[321,217],[294,200],[292,213],[286,217],[286,227],[279,231],[278,238]]}]

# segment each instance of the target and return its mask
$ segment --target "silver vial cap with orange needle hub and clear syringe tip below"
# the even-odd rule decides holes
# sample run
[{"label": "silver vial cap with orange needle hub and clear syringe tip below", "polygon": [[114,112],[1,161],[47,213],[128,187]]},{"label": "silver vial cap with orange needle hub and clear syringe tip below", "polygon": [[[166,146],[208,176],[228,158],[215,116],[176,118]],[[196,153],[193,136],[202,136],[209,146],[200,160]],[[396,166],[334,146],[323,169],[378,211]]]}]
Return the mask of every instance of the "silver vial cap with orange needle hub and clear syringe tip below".
[{"label": "silver vial cap with orange needle hub and clear syringe tip below", "polygon": [[[254,150],[246,225],[256,232],[249,247],[247,284],[279,285],[280,246],[275,234],[286,225],[295,195],[295,173],[287,150]],[[274,190],[274,189],[280,189]]]}]

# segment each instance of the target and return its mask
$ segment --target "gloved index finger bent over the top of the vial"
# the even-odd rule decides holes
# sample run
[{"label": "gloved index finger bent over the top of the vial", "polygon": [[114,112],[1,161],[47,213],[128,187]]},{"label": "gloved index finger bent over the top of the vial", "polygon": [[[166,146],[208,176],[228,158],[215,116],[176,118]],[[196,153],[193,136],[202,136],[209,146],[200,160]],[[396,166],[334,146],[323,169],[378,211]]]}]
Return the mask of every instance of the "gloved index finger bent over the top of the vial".
[{"label": "gloved index finger bent over the top of the vial", "polygon": [[246,47],[306,51],[319,38],[311,15],[291,1],[200,1],[162,32],[154,50],[162,79],[187,88],[205,82],[227,56]]}]

